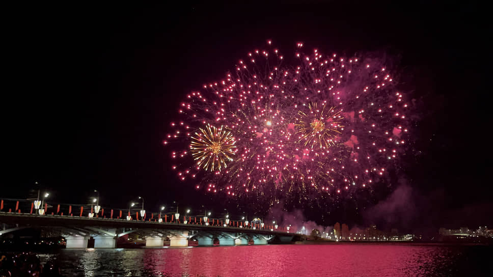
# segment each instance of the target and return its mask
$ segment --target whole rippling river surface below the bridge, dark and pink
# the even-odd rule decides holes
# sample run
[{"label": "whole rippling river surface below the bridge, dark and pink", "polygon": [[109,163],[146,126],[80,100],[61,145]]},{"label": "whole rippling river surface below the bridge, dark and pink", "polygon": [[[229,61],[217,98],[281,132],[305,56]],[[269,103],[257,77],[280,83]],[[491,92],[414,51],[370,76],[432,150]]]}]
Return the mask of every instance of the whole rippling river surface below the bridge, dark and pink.
[{"label": "whole rippling river surface below the bridge, dark and pink", "polygon": [[493,247],[341,243],[191,248],[63,249],[64,276],[483,276]]}]

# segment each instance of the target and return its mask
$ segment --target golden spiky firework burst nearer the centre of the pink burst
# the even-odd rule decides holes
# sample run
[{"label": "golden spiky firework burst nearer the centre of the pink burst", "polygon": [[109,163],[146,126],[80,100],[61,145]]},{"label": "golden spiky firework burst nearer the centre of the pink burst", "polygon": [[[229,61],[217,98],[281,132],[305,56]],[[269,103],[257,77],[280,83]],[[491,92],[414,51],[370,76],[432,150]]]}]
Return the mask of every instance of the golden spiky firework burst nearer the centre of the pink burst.
[{"label": "golden spiky firework burst nearer the centre of the pink burst", "polygon": [[299,133],[298,142],[304,142],[305,146],[311,148],[319,146],[320,148],[327,148],[334,145],[334,138],[340,134],[342,127],[341,122],[344,119],[341,116],[341,112],[337,111],[335,107],[325,108],[323,105],[321,109],[318,108],[317,103],[310,103],[308,108],[310,113],[306,114],[303,111],[298,112],[296,117],[296,133]]}]

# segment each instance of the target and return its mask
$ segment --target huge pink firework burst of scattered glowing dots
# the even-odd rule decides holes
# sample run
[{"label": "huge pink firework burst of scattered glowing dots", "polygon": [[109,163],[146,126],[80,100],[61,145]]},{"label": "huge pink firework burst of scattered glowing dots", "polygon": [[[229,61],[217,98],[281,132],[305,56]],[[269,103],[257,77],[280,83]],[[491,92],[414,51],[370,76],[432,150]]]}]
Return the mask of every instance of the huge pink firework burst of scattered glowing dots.
[{"label": "huge pink firework burst of scattered glowing dots", "polygon": [[[295,62],[285,64],[269,42],[224,79],[184,97],[164,142],[180,180],[211,193],[274,198],[336,198],[386,181],[409,140],[408,103],[390,70],[375,59],[297,47]],[[231,133],[235,143],[213,171],[191,151],[206,126]],[[220,157],[224,147],[214,147],[201,149]]]}]

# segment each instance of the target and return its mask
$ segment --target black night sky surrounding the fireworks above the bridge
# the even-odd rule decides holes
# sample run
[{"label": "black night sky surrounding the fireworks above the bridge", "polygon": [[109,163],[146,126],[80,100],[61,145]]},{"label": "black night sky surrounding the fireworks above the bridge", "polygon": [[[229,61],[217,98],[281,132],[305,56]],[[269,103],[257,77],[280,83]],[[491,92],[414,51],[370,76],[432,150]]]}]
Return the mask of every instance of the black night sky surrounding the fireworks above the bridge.
[{"label": "black night sky surrounding the fireworks above the bridge", "polygon": [[342,203],[323,220],[306,210],[307,219],[493,226],[491,30],[480,5],[46,5],[4,11],[2,198],[25,199],[37,181],[58,203],[86,203],[98,189],[103,206],[143,196],[150,210],[176,201],[221,211],[222,199],[178,182],[161,141],[184,94],[272,39],[286,54],[298,41],[307,51],[386,53],[419,107],[401,181],[364,211]]}]

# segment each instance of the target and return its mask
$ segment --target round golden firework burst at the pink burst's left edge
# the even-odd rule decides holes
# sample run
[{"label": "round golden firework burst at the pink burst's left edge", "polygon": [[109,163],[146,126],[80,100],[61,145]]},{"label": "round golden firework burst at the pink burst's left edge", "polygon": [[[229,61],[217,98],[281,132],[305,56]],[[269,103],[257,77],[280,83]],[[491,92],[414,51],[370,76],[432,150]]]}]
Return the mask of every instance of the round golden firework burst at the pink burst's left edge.
[{"label": "round golden firework burst at the pink burst's left edge", "polygon": [[233,134],[221,126],[207,126],[191,137],[190,152],[197,160],[197,165],[205,170],[219,170],[226,168],[227,162],[233,160],[235,143]]}]

